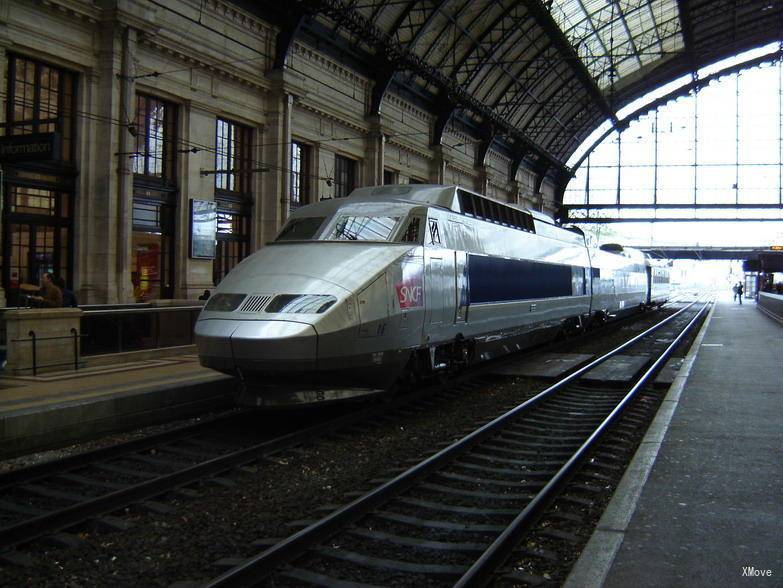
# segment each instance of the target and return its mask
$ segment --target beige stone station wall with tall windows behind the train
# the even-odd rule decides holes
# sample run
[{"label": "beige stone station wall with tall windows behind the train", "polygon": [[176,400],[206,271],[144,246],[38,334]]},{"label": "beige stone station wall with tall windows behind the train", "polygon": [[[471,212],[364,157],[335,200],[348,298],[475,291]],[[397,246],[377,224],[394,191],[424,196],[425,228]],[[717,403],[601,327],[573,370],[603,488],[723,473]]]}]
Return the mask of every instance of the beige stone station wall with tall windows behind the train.
[{"label": "beige stone station wall with tall windows behind the train", "polygon": [[[188,252],[190,199],[215,198],[216,118],[253,129],[251,249],[288,215],[290,143],[306,142],[311,201],[333,195],[336,155],[357,161],[358,185],[455,183],[503,201],[552,212],[554,189],[534,172],[447,126],[431,144],[434,116],[386,93],[368,112],[372,81],[302,42],[272,70],[275,28],[222,0],[30,0],[0,2],[0,74],[19,54],[78,74],[74,282],[82,303],[132,301],[133,120],[136,93],[178,107],[176,298],[211,289],[212,262]],[[7,88],[7,79],[3,80]],[[5,117],[5,93],[0,122]],[[480,163],[480,165],[479,165]],[[0,292],[2,296],[2,292]]]}]

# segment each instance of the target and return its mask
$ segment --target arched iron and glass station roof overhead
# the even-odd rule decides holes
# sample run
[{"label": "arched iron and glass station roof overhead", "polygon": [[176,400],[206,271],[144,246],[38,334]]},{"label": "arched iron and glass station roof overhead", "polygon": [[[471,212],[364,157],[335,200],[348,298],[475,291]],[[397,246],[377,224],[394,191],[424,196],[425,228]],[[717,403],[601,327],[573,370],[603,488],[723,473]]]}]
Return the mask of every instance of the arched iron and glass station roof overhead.
[{"label": "arched iron and glass station roof overhead", "polygon": [[276,22],[278,45],[306,38],[364,67],[377,112],[403,93],[561,183],[593,130],[620,126],[618,110],[783,31],[777,0],[235,1]]}]

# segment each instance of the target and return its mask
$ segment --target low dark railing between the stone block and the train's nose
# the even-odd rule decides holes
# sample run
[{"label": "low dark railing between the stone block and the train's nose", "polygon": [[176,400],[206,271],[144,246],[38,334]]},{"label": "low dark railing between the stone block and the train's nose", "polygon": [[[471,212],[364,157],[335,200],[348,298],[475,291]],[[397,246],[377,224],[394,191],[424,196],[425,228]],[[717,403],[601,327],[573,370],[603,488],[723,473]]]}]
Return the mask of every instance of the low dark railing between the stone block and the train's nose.
[{"label": "low dark railing between the stone block and the train's nose", "polygon": [[192,345],[201,305],[81,307],[82,356]]}]

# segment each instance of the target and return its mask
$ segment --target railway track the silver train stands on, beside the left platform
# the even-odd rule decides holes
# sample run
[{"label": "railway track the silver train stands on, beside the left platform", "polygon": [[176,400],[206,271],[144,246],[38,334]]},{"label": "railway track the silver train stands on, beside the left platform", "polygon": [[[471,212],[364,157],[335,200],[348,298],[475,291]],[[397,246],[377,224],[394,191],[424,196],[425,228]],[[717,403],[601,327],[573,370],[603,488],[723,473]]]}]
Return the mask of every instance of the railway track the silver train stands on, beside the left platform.
[{"label": "railway track the silver train stands on, beside the left platform", "polygon": [[[617,321],[617,326],[626,322]],[[591,335],[610,328],[607,325]],[[257,442],[241,437],[229,441],[215,434],[219,429],[231,428],[233,420],[244,413],[230,414],[0,474],[0,561],[24,564],[24,552],[15,548],[42,538],[49,544],[74,546],[78,543],[74,531],[85,525],[123,530],[127,523],[112,515],[129,507],[153,514],[170,512],[167,495],[188,497],[193,495],[188,487],[205,482],[230,485],[230,478],[223,477],[226,472],[241,470],[313,438],[350,431],[358,425],[366,430],[374,421],[400,418],[405,411],[410,414],[417,405],[421,408],[448,401],[453,395],[483,385],[484,372],[479,369],[465,374],[450,382],[447,389],[433,385],[417,390],[415,397],[354,410],[325,422],[321,417],[318,424],[301,424],[298,431],[289,432],[290,424],[273,425],[267,437]]]}]

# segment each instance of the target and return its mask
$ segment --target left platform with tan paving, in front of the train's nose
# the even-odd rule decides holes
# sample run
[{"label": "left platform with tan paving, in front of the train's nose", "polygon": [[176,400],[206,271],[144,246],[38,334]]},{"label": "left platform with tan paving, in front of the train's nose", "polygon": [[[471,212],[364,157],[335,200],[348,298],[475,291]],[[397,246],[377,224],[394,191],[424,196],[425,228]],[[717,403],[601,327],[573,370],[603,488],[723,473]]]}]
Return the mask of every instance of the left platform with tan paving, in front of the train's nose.
[{"label": "left platform with tan paving, in front of the train's nose", "polygon": [[[160,355],[163,355],[162,353]],[[227,408],[233,379],[191,349],[39,376],[0,375],[0,459]]]}]

